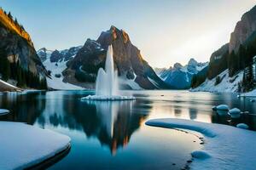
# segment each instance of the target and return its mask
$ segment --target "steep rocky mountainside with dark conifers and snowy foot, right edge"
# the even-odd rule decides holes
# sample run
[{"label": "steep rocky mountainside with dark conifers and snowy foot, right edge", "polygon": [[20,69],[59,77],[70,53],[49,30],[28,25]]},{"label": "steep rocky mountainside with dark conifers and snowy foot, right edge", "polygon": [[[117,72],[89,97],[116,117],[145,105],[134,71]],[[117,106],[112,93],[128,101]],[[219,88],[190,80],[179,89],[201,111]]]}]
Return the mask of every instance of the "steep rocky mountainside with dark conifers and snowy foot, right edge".
[{"label": "steep rocky mountainside with dark conifers and snowy foot, right edge", "polygon": [[247,92],[256,81],[256,6],[241,16],[230,42],[212,53],[207,71],[192,80],[194,91]]}]

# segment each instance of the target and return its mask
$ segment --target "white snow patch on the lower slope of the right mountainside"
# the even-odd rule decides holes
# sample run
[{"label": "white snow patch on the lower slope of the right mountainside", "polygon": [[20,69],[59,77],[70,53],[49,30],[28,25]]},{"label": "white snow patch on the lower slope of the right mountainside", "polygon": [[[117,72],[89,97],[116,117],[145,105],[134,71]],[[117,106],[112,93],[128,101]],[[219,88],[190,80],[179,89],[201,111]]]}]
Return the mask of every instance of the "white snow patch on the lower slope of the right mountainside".
[{"label": "white snow patch on the lower slope of the right mountainside", "polygon": [[229,77],[229,70],[221,72],[218,77],[223,79],[220,83],[215,85],[216,78],[212,80],[207,79],[199,87],[190,89],[191,92],[217,92],[217,93],[230,93],[237,92],[238,82],[242,80],[243,71],[240,71],[233,77]]}]

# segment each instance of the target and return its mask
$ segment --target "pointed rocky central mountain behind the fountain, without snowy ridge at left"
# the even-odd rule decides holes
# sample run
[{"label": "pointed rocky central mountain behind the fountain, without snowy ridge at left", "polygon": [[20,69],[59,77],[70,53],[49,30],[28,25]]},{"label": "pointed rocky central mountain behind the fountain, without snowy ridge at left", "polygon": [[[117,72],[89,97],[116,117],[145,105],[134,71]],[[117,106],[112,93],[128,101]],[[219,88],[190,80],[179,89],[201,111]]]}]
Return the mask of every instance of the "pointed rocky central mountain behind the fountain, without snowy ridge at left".
[{"label": "pointed rocky central mountain behind the fountain, without snowy ridge at left", "polygon": [[114,26],[103,31],[96,41],[87,39],[78,54],[67,62],[67,69],[63,72],[64,82],[84,88],[94,83],[98,69],[104,67],[108,45],[113,46],[113,60],[121,88],[170,88],[143,59],[128,34]]}]

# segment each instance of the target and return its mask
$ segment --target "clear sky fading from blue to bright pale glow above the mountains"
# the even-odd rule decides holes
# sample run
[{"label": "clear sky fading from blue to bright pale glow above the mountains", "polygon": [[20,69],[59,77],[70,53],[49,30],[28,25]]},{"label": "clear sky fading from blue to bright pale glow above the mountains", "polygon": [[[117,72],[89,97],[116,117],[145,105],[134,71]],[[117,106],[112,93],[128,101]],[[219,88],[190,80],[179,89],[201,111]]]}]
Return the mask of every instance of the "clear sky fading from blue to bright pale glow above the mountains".
[{"label": "clear sky fading from blue to bright pale glow above the mountains", "polygon": [[254,5],[255,0],[0,0],[36,49],[83,45],[116,26],[149,65],[166,68],[190,58],[208,61]]}]

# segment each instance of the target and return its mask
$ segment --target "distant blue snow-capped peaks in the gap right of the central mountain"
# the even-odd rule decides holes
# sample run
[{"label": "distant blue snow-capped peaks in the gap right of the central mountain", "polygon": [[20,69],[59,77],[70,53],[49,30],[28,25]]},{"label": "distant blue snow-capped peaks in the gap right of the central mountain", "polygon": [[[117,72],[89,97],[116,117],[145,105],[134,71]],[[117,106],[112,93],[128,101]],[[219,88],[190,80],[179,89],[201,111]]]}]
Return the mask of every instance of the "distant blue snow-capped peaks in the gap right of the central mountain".
[{"label": "distant blue snow-capped peaks in the gap right of the central mountain", "polygon": [[155,69],[159,77],[166,83],[177,89],[190,88],[192,77],[205,68],[208,63],[199,63],[190,59],[188,65],[176,63],[169,69]]}]

